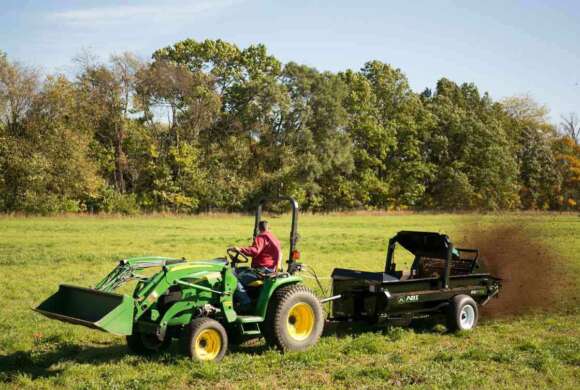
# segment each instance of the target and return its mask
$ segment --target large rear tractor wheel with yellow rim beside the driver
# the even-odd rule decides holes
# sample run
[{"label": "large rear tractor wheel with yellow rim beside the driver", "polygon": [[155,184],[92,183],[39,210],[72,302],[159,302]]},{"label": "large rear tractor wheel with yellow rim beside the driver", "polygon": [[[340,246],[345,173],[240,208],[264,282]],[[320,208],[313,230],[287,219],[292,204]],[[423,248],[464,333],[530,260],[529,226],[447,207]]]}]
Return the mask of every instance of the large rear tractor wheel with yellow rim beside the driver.
[{"label": "large rear tractor wheel with yellow rim beside the driver", "polygon": [[304,351],[318,342],[324,328],[322,305],[304,285],[274,292],[262,333],[266,342],[283,352]]}]

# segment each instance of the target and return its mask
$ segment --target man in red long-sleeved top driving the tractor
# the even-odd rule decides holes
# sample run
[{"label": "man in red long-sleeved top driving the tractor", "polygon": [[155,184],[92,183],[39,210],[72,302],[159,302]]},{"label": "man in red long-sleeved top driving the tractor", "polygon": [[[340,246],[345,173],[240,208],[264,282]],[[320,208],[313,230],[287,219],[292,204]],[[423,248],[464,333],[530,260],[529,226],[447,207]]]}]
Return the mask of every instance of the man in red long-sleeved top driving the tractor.
[{"label": "man in red long-sleeved top driving the tractor", "polygon": [[251,267],[240,268],[237,272],[238,288],[235,292],[235,301],[240,311],[251,308],[252,301],[246,291],[246,287],[260,280],[261,275],[276,272],[280,264],[281,249],[280,241],[268,229],[268,221],[258,223],[259,234],[254,238],[252,246],[245,248],[233,248],[245,256],[252,258]]}]

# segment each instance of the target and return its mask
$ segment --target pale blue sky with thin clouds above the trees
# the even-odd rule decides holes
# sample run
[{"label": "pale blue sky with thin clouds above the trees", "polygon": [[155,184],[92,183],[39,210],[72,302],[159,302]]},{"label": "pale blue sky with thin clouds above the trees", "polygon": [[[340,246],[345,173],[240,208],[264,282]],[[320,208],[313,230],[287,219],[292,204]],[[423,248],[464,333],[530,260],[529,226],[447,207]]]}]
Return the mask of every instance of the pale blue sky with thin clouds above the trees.
[{"label": "pale blue sky with thin clouds above the trees", "polygon": [[46,72],[71,72],[83,49],[149,58],[188,37],[264,43],[320,70],[378,59],[417,91],[448,77],[495,99],[529,93],[554,122],[580,113],[578,0],[0,1],[0,50]]}]

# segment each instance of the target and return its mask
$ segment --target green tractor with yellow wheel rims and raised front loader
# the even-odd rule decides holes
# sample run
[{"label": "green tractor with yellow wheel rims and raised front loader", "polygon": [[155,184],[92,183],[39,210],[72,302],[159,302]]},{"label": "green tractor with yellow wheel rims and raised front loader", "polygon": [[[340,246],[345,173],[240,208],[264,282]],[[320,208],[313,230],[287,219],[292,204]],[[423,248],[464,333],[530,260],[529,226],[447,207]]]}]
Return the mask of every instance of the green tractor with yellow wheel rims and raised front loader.
[{"label": "green tractor with yellow wheel rims and raised front loader", "polygon": [[[139,354],[162,351],[173,339],[195,360],[219,361],[228,343],[264,337],[281,351],[302,351],[314,345],[323,330],[321,303],[302,278],[298,239],[298,204],[292,207],[287,269],[264,275],[248,287],[253,308],[236,312],[236,269],[248,258],[233,249],[227,258],[188,261],[138,257],[119,265],[94,288],[60,285],[35,310],[49,318],[84,325],[127,338]],[[254,237],[266,200],[256,211]],[[153,270],[154,272],[151,272]],[[136,281],[131,296],[115,292]]]}]

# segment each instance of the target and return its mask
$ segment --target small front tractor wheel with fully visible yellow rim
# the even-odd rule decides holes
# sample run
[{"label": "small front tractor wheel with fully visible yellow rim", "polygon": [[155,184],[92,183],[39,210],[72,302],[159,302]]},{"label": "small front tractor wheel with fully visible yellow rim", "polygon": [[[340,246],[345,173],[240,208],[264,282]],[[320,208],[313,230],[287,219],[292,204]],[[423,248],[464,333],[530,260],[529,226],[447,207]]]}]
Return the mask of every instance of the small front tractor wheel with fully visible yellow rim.
[{"label": "small front tractor wheel with fully visible yellow rim", "polygon": [[228,334],[212,318],[195,318],[181,336],[181,347],[194,360],[219,362],[228,350]]}]

